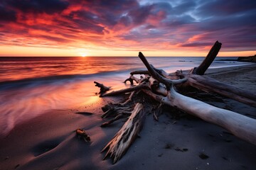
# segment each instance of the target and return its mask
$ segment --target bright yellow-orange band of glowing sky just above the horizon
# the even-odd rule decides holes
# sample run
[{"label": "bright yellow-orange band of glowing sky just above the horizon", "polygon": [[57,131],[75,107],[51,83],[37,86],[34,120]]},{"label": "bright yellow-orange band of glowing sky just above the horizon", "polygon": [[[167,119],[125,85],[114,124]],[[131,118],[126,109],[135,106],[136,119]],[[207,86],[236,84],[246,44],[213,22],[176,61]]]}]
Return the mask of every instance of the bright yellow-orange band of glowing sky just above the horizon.
[{"label": "bright yellow-orange band of glowing sky just above the horizon", "polygon": [[[209,49],[142,50],[146,57],[205,57]],[[84,50],[48,47],[0,46],[0,57],[137,57],[139,50]],[[218,57],[242,57],[255,55],[256,51],[224,51]]]}]

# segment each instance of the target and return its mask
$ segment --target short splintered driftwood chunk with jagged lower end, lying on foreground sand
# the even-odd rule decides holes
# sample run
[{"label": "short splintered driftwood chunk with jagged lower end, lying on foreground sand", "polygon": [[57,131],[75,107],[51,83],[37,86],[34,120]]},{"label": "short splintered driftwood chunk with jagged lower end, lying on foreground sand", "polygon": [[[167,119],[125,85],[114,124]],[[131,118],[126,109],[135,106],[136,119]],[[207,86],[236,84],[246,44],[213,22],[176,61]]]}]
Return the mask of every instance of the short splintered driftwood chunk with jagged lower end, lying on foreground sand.
[{"label": "short splintered driftwood chunk with jagged lower end, lying on foreground sand", "polygon": [[110,157],[114,159],[113,163],[115,164],[127,151],[129,146],[132,145],[132,142],[139,135],[139,131],[142,129],[144,123],[145,112],[142,109],[142,103],[137,103],[127,122],[102,149],[102,152],[107,150],[104,159],[110,155]]}]

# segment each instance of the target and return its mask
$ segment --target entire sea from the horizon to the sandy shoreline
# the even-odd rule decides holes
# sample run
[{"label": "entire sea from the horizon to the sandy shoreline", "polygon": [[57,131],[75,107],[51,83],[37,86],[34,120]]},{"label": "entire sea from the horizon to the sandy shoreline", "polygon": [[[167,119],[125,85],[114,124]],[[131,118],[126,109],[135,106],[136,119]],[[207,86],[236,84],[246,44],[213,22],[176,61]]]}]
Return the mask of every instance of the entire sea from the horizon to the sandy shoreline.
[{"label": "entire sea from the horizon to the sandy shoreline", "polygon": [[[217,57],[212,68],[244,63],[235,57]],[[166,72],[191,69],[203,57],[148,57]],[[138,57],[0,57],[0,135],[18,123],[51,109],[67,109],[101,102],[95,95],[99,81],[121,89],[129,72],[145,69]]]}]

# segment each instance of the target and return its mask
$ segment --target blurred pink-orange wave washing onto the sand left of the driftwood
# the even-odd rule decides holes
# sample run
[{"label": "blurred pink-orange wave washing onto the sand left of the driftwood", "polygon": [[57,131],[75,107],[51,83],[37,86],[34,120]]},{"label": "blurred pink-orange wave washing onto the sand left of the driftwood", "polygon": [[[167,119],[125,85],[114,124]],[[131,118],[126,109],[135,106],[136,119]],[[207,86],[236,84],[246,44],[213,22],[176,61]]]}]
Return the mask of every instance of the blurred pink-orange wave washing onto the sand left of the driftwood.
[{"label": "blurred pink-orange wave washing onto the sand left of the driftwood", "polygon": [[[37,77],[6,81],[0,84],[0,136],[6,135],[18,123],[51,109],[68,109],[101,102],[93,81],[106,83],[113,89],[124,88],[128,72],[101,72]],[[92,78],[93,77],[93,78]]]}]

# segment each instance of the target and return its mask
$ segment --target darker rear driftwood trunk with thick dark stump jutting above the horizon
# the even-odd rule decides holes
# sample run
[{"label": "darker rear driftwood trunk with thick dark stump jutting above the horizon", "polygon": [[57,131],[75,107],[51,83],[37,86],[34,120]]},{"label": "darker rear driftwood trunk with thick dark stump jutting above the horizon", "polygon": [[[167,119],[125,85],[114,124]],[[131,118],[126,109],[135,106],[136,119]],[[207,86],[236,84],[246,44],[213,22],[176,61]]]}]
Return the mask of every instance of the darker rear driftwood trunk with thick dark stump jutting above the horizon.
[{"label": "darker rear driftwood trunk with thick dark stump jutting above the horizon", "polygon": [[184,88],[186,88],[186,85],[193,86],[196,89],[206,92],[214,92],[216,94],[220,94],[221,96],[232,98],[236,101],[240,101],[241,103],[245,103],[247,105],[256,107],[255,94],[250,93],[249,91],[246,91],[244,89],[239,89],[235,86],[230,86],[220,81],[216,81],[215,79],[211,79],[206,76],[201,76],[206,72],[210,64],[215,59],[216,55],[218,55],[220,47],[221,43],[216,41],[213,47],[210,49],[210,52],[208,53],[206,59],[203,60],[199,67],[194,68],[188,74],[176,72],[176,77],[187,78]]}]

